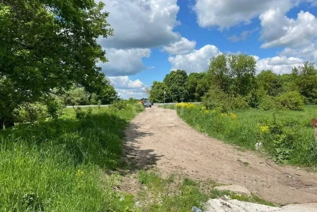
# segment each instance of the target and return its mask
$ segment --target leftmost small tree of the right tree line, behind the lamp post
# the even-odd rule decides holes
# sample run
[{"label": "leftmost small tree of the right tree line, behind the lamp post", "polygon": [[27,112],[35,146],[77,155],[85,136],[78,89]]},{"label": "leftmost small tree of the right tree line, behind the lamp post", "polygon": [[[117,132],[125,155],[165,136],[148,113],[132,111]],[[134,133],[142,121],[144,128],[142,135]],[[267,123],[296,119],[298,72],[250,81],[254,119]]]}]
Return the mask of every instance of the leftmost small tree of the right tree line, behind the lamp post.
[{"label": "leftmost small tree of the right tree line, behind the lamp post", "polygon": [[152,102],[163,103],[164,91],[166,91],[165,102],[167,102],[169,101],[169,93],[167,86],[164,82],[154,81],[151,86],[149,100]]}]

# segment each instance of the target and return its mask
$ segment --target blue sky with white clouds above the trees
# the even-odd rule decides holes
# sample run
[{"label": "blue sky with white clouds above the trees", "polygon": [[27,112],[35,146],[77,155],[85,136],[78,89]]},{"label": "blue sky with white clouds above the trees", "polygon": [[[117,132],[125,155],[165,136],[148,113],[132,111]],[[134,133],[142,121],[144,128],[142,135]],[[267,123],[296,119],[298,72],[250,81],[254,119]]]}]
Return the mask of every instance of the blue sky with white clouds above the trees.
[{"label": "blue sky with white clouds above the trees", "polygon": [[205,71],[211,57],[246,53],[257,70],[289,73],[317,61],[317,0],[103,0],[114,35],[100,64],[122,98],[172,69]]}]

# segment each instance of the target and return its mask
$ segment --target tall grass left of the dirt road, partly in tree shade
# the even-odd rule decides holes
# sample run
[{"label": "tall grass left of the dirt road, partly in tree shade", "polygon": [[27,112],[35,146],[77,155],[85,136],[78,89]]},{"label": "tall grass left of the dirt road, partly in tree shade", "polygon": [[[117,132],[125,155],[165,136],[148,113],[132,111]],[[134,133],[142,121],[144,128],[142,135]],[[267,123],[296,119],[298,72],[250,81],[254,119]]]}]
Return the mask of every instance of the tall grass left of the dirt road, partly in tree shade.
[{"label": "tall grass left of the dirt road, partly in tree shade", "polygon": [[141,106],[95,108],[77,120],[17,125],[0,133],[1,211],[128,211],[133,196],[114,192],[104,171],[121,165],[121,139]]}]

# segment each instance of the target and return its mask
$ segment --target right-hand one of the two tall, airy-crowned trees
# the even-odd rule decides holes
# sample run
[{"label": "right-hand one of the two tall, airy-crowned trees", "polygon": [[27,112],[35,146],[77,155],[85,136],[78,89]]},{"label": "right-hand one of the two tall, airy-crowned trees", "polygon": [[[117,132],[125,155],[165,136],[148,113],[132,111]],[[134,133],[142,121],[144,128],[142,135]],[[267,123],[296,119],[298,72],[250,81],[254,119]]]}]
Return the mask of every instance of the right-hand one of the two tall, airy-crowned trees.
[{"label": "right-hand one of the two tall, airy-crowned trees", "polygon": [[232,79],[230,93],[246,96],[254,87],[256,61],[251,55],[229,55],[229,77]]}]

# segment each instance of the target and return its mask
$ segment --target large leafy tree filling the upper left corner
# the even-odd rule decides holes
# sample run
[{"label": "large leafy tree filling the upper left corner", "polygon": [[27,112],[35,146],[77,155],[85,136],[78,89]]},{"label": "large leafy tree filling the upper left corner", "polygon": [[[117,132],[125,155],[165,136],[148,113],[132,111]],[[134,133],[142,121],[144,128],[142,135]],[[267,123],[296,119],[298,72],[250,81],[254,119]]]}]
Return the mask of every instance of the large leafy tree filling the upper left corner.
[{"label": "large leafy tree filling the upper left corner", "polygon": [[[94,92],[106,62],[97,38],[112,35],[94,0],[0,0],[0,121],[21,104],[73,85]],[[0,123],[2,128],[2,123]]]}]

